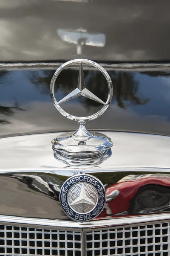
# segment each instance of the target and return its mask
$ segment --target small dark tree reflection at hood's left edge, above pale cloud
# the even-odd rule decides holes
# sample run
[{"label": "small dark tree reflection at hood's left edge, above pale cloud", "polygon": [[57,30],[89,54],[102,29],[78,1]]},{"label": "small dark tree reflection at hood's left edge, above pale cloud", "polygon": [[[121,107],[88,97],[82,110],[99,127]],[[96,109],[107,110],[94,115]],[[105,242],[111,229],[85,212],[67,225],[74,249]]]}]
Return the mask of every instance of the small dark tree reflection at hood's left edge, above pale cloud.
[{"label": "small dark tree reflection at hood's left edge, above pale cloud", "polygon": [[[13,116],[14,115],[14,110],[25,111],[25,109],[20,108],[20,106],[19,106],[17,101],[14,103],[13,107],[8,107],[8,106],[0,105],[0,114],[2,114],[2,115]],[[6,125],[6,124],[10,124],[10,123],[11,122],[8,122],[5,119],[0,119],[0,124],[1,125]]]}]

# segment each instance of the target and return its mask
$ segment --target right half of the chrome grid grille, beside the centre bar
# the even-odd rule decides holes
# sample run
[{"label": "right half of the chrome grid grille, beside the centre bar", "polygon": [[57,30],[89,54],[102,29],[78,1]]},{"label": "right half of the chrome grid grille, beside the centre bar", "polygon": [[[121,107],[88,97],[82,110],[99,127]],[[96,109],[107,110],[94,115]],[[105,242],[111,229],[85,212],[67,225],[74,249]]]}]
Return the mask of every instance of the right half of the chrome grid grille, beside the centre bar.
[{"label": "right half of the chrome grid grille, beside the centre bar", "polygon": [[170,223],[87,233],[88,256],[170,256]]}]

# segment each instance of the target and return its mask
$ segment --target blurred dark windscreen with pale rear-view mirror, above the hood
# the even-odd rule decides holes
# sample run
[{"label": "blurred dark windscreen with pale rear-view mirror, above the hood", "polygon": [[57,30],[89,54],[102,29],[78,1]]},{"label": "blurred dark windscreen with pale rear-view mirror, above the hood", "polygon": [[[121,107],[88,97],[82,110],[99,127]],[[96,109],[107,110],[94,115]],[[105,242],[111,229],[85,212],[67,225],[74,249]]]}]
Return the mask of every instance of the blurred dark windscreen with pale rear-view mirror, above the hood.
[{"label": "blurred dark windscreen with pale rear-view mirror, above the hood", "polygon": [[168,0],[0,0],[0,61],[66,61],[78,44],[96,61],[169,61],[169,9]]}]

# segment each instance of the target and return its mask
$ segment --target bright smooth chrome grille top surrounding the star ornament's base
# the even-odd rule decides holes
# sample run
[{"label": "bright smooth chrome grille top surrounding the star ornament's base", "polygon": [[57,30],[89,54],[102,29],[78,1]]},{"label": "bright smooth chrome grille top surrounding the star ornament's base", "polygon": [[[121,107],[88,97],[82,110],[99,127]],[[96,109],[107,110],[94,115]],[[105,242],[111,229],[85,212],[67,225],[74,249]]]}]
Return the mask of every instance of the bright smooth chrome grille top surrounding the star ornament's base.
[{"label": "bright smooth chrome grille top surrounding the star ornament's base", "polygon": [[[1,138],[0,172],[7,173],[6,171],[9,170],[11,172],[18,170],[50,172],[55,170],[59,173],[59,170],[62,170],[62,175],[71,176],[79,170],[86,172],[146,170],[151,172],[153,169],[153,172],[168,172],[170,169],[170,137],[167,136],[107,131],[105,134],[111,137],[115,144],[115,147],[111,148],[111,157],[100,165],[80,166],[79,168],[68,166],[53,156],[51,140],[60,134],[61,132]],[[128,175],[130,174],[132,173]]]}]

